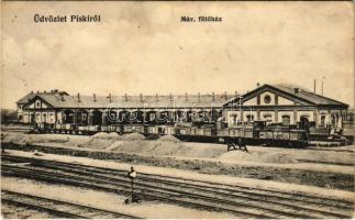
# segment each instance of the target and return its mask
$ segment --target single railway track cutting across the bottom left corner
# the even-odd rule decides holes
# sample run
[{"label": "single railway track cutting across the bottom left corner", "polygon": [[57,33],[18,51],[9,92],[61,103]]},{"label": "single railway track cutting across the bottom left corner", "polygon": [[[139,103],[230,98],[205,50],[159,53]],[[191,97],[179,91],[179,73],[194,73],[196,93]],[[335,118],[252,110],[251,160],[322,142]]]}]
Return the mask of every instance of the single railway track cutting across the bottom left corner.
[{"label": "single railway track cutting across the bottom left corner", "polygon": [[78,204],[43,198],[1,189],[1,202],[44,211],[58,218],[70,219],[137,219],[137,217],[92,208]]}]

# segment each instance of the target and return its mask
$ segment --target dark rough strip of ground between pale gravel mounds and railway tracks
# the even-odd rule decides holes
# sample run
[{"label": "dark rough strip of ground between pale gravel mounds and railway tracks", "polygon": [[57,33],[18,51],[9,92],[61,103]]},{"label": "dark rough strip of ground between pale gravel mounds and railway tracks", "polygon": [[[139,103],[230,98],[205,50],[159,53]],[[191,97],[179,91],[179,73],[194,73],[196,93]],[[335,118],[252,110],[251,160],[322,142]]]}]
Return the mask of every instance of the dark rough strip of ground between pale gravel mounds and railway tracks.
[{"label": "dark rough strip of ground between pale gravel mounds and railway tracks", "polygon": [[106,160],[113,162],[123,162],[130,164],[151,165],[160,167],[179,168],[193,170],[201,174],[230,175],[246,178],[257,178],[275,180],[281,183],[292,183],[300,185],[312,185],[324,188],[334,188],[342,190],[354,190],[354,175],[331,174],[323,172],[299,170],[277,167],[256,167],[230,165],[220,162],[208,162],[200,160],[175,160],[156,156],[145,156],[125,153],[98,152],[87,150],[73,150],[43,145],[18,145],[5,144],[7,148],[21,151],[40,151],[44,153],[89,157],[96,160]]}]

